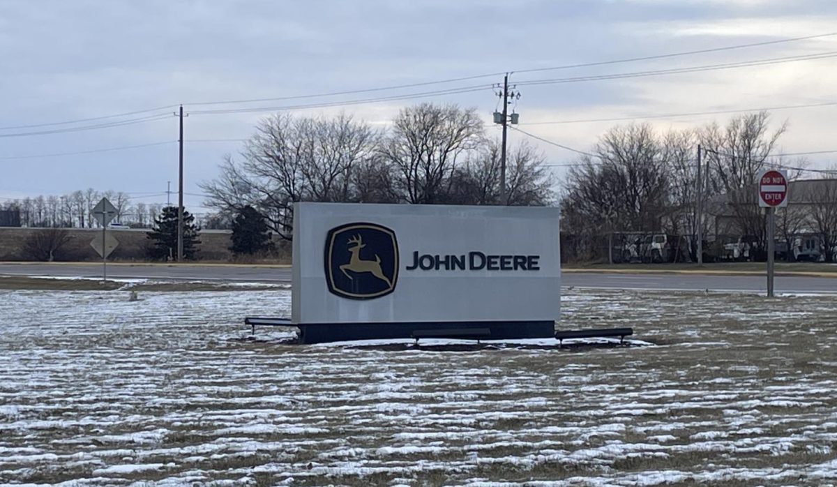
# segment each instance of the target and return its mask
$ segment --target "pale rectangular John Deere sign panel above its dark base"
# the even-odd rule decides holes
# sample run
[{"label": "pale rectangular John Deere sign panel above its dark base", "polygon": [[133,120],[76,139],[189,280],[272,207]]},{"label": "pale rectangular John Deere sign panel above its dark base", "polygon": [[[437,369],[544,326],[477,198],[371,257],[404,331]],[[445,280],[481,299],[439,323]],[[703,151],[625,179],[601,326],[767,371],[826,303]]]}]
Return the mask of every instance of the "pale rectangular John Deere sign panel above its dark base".
[{"label": "pale rectangular John Deere sign panel above its dark base", "polygon": [[297,203],[294,324],[557,320],[558,208]]}]

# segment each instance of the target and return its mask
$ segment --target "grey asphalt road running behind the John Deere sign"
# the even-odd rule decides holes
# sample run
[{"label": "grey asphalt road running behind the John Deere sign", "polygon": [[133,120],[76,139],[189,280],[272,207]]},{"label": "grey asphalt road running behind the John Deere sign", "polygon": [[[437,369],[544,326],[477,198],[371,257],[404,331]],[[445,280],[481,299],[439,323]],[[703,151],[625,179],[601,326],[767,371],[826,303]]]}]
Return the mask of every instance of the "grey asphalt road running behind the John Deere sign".
[{"label": "grey asphalt road running behind the John Deere sign", "polygon": [[[101,264],[0,264],[0,275],[86,277],[101,276]],[[219,280],[228,282],[290,283],[290,267],[200,264],[108,264],[114,279]],[[764,275],[578,272],[562,274],[562,285],[624,290],[714,290],[767,292]],[[837,293],[837,276],[778,276],[778,293]]]}]

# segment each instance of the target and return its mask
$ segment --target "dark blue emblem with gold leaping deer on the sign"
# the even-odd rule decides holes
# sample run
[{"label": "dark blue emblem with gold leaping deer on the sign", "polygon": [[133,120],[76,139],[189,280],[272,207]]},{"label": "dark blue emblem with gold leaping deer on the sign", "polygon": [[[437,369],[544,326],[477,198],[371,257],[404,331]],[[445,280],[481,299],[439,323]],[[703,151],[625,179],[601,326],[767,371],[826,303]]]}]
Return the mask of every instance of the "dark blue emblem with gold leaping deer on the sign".
[{"label": "dark blue emblem with gold leaping deer on the sign", "polygon": [[326,281],[333,294],[371,300],[393,292],[397,280],[395,232],[374,223],[349,223],[329,230]]}]

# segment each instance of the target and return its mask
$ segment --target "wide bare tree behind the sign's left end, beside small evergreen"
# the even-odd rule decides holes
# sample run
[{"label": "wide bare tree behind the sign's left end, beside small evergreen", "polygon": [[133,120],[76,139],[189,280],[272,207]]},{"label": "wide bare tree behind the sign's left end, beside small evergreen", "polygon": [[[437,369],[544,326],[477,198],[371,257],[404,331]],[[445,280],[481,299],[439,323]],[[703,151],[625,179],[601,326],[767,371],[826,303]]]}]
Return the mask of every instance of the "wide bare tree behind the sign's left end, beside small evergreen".
[{"label": "wide bare tree behind the sign's left end, beside small evergreen", "polygon": [[377,134],[367,124],[274,115],[256,127],[243,161],[227,157],[221,175],[201,185],[207,205],[230,218],[249,205],[276,233],[290,238],[293,203],[357,201],[354,174],[375,156]]}]

